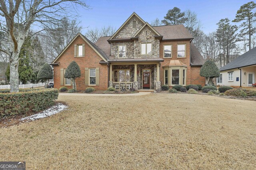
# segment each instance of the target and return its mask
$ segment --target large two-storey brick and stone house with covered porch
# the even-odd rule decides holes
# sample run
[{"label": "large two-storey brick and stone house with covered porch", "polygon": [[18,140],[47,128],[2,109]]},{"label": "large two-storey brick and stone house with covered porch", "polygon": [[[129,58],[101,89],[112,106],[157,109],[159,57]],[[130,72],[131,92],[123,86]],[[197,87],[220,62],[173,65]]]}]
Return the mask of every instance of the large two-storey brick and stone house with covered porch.
[{"label": "large two-storey brick and stone house with covered porch", "polygon": [[133,13],[112,36],[100,37],[94,44],[76,35],[52,62],[54,87],[70,86],[65,68],[76,61],[81,77],[78,90],[93,86],[106,90],[159,89],[161,85],[205,84],[199,75],[204,63],[184,25],[152,27]]}]

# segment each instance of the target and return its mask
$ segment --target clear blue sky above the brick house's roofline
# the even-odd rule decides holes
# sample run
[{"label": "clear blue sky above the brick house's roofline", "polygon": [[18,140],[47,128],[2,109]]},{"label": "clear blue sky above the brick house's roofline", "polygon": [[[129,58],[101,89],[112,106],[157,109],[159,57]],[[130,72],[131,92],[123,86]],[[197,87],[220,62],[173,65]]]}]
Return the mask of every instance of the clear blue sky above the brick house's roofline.
[{"label": "clear blue sky above the brick house's roofline", "polygon": [[[168,10],[175,6],[182,11],[190,9],[198,14],[203,31],[209,33],[217,29],[216,23],[222,18],[234,20],[237,10],[249,0],[87,0],[90,10],[80,9],[82,27],[101,28],[111,25],[118,29],[122,23],[136,12],[144,21],[151,23],[163,20]],[[87,29],[82,29],[86,33]]]}]

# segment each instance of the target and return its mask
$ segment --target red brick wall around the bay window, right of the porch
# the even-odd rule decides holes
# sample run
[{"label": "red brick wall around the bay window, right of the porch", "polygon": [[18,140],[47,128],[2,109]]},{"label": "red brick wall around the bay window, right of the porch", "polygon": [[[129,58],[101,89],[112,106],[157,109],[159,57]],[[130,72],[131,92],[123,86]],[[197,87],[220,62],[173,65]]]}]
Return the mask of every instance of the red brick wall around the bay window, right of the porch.
[{"label": "red brick wall around the bay window, right of the porch", "polygon": [[[186,58],[177,57],[178,44],[186,44]],[[164,58],[164,45],[172,45],[172,58]],[[186,85],[201,84],[204,86],[204,77],[199,75],[201,67],[190,66],[190,40],[160,41],[160,58],[164,59],[164,62],[162,62],[160,66],[161,85],[164,84],[164,69],[162,66],[166,63],[169,63],[170,60],[179,60],[188,66],[186,72]]]}]

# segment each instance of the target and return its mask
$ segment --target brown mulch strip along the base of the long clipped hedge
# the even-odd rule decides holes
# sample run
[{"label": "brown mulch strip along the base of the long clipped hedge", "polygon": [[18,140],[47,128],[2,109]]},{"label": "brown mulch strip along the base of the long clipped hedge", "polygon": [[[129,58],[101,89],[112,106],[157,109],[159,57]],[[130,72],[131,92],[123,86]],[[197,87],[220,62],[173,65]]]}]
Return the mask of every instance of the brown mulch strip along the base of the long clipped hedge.
[{"label": "brown mulch strip along the base of the long clipped hedge", "polygon": [[[67,105],[66,102],[55,102],[54,106],[59,104],[59,103]],[[45,110],[47,110],[49,108],[50,107],[46,108]],[[0,128],[2,128],[2,127],[10,127],[10,126],[13,126],[13,125],[19,125],[21,123],[24,123],[23,121],[20,120],[21,118],[28,117],[28,116],[31,116],[31,115],[35,115],[35,114],[40,113],[40,112],[41,111],[28,112],[28,113],[26,113],[24,115],[19,114],[19,115],[10,115],[8,117],[1,117],[0,118]]]}]

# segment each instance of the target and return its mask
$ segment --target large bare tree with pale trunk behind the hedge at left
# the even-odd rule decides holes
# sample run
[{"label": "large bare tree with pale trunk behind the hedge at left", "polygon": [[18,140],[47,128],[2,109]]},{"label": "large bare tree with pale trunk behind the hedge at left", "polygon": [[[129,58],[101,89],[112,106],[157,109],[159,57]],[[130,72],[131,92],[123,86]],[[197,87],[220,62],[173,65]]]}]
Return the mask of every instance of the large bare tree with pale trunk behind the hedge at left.
[{"label": "large bare tree with pale trunk behind the hedge at left", "polygon": [[9,56],[11,92],[19,91],[18,59],[30,28],[36,26],[35,33],[41,32],[49,23],[70,16],[78,6],[88,8],[83,0],[0,0],[0,30],[8,35],[0,51]]}]

